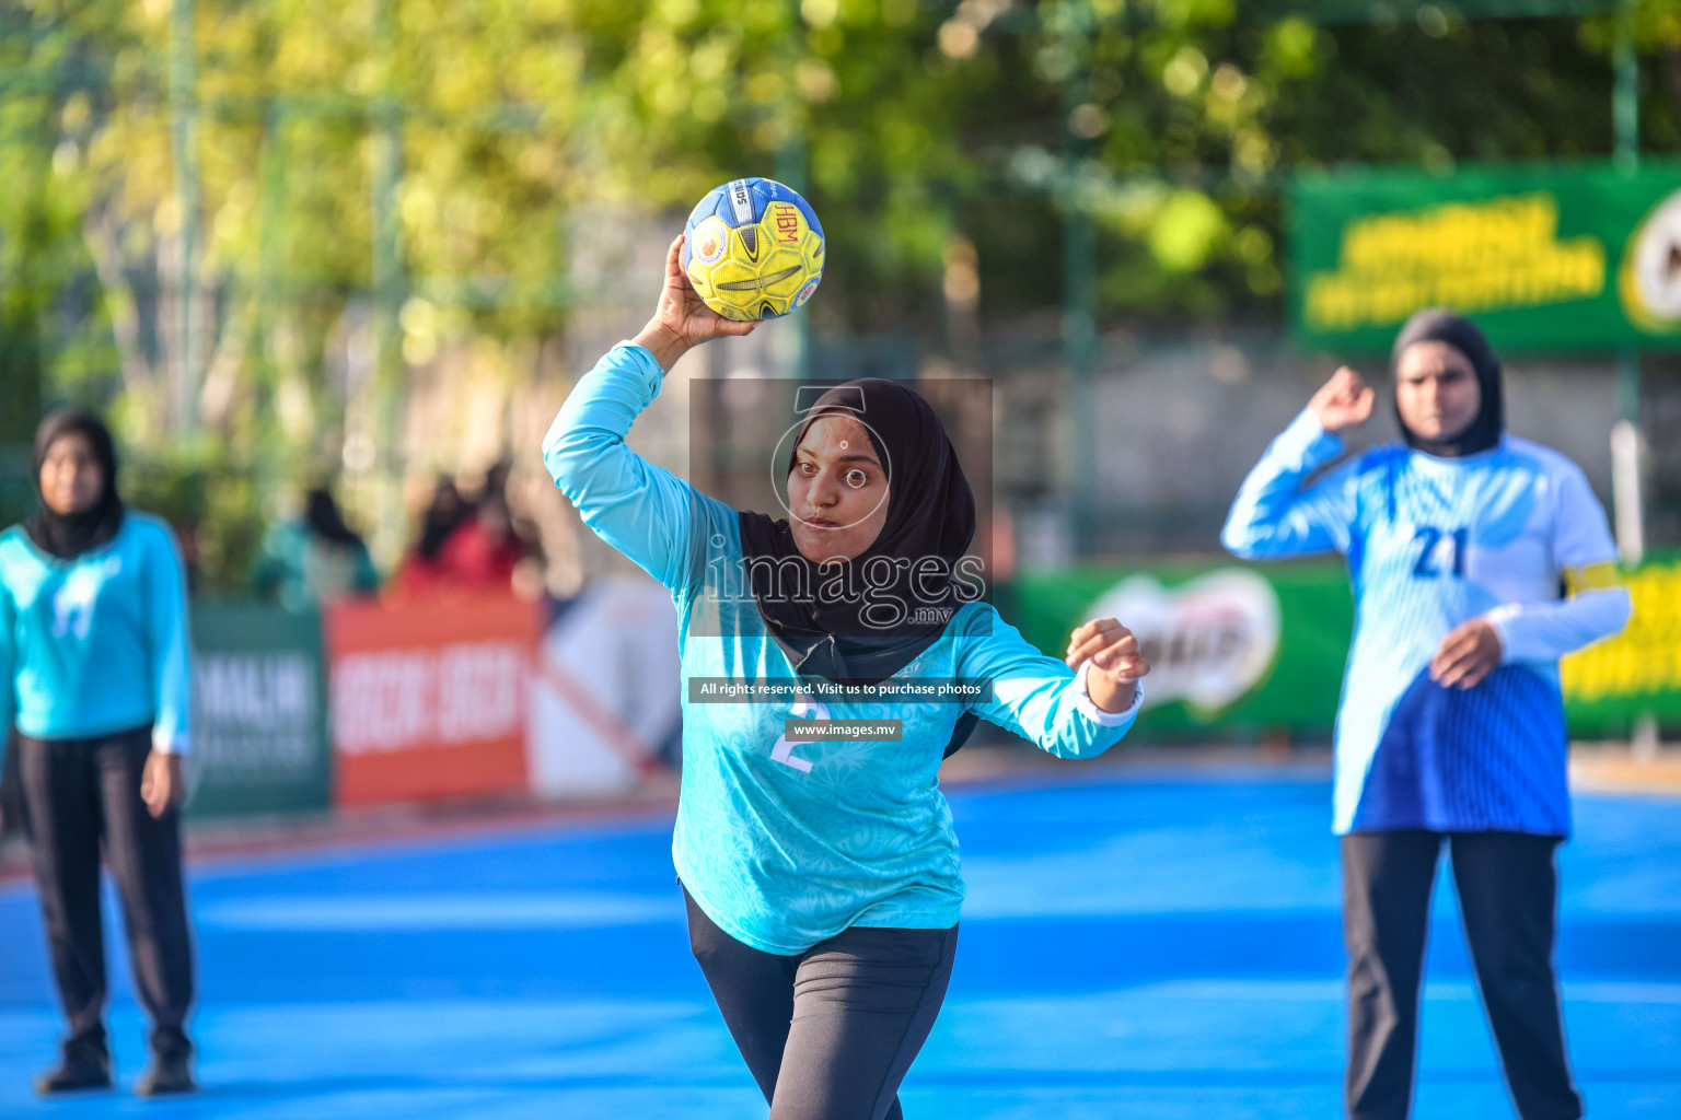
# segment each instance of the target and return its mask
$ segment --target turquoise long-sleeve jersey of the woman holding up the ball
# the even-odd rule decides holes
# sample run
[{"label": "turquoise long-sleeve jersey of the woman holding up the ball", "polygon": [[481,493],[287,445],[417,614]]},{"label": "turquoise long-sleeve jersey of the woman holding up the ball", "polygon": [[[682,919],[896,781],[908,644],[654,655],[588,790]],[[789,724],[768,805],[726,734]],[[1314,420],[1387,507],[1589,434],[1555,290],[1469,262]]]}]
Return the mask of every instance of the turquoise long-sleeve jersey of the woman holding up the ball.
[{"label": "turquoise long-sleeve jersey of the woman holding up the ball", "polygon": [[[741,556],[736,510],[625,447],[661,368],[620,344],[585,374],[543,442],[556,485],[603,541],[672,594],[682,660],[682,794],[672,858],[723,930],[798,954],[851,925],[946,929],[963,903],[958,843],[940,793],[960,704],[691,702],[699,677],[790,680]],[[1108,714],[1078,677],[968,603],[898,678],[990,678],[982,719],[1062,757],[1121,739],[1138,710]],[[1141,697],[1141,690],[1140,690]],[[903,720],[899,742],[788,742],[790,717]]]}]

